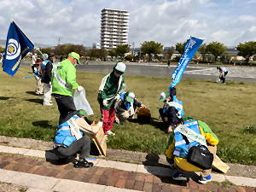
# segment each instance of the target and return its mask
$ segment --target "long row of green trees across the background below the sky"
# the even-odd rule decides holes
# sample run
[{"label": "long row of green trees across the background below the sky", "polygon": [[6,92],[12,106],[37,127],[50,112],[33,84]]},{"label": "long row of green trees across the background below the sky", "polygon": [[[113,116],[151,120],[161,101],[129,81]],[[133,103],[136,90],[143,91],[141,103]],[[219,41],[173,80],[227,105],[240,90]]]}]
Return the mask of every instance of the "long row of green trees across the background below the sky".
[{"label": "long row of green trees across the background below the sky", "polygon": [[[172,55],[177,52],[180,55],[183,55],[185,50],[185,44],[177,43],[175,47],[171,47],[165,51],[165,55],[161,59],[171,60]],[[55,53],[55,55],[62,55],[62,57],[67,57],[68,53],[75,51],[83,58],[89,58],[90,60],[94,59],[104,59],[107,56],[110,56],[111,59],[118,58],[123,61],[124,59],[127,61],[138,61],[144,59],[146,61],[152,61],[153,59],[160,59],[160,54],[164,52],[164,45],[154,42],[154,41],[144,41],[141,44],[141,49],[138,53],[134,53],[134,50],[131,50],[129,44],[121,44],[118,45],[114,49],[86,49],[82,44],[59,44],[55,46],[55,48],[42,48],[40,51],[42,53],[50,54]],[[237,55],[245,58],[246,63],[249,61],[250,57],[256,55],[256,42],[249,41],[244,44],[238,44],[236,46],[238,50]],[[231,55],[226,52],[227,47],[224,44],[221,44],[217,41],[209,43],[209,44],[201,44],[200,48],[194,55],[195,60],[202,61],[214,61],[216,62],[218,58],[220,61],[230,61]],[[4,49],[0,47],[0,51],[4,52]],[[33,53],[38,53],[37,49],[32,50]],[[176,60],[178,61],[180,56],[177,55]]]}]

